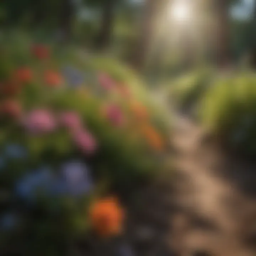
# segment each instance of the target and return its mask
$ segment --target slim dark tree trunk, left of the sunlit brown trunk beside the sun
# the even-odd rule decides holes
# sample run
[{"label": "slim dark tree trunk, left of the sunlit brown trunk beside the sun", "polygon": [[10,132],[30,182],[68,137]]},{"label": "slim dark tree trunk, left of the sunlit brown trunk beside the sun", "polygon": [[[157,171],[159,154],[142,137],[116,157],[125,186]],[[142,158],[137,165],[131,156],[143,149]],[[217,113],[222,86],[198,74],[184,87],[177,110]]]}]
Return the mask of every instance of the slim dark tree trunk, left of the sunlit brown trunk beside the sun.
[{"label": "slim dark tree trunk, left of the sunlit brown trunk beside the sun", "polygon": [[105,49],[109,46],[113,30],[115,0],[103,4],[100,32],[96,38],[96,47]]}]

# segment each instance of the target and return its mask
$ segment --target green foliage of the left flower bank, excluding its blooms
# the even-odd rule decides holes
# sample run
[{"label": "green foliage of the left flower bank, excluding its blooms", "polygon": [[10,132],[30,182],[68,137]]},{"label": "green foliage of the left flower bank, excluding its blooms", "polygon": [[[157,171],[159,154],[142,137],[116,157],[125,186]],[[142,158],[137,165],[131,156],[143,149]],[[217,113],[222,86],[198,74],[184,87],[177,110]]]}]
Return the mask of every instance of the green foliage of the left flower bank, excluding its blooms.
[{"label": "green foliage of the left flower bank, excluding its blooms", "polygon": [[[140,181],[161,170],[160,156],[168,150],[169,123],[165,112],[155,106],[140,76],[122,63],[87,54],[71,45],[57,47],[54,43],[49,45],[50,58],[39,60],[32,55],[31,46],[31,38],[21,33],[10,33],[0,42],[3,53],[0,89],[9,80],[16,79],[15,71],[19,68],[25,67],[33,73],[31,81],[20,84],[21,91],[14,96],[8,95],[8,99],[21,106],[22,116],[15,120],[5,119],[0,111],[0,160],[4,159],[4,167],[0,165],[0,188],[3,194],[7,194],[7,198],[0,198],[0,204],[7,212],[15,211],[20,220],[13,230],[0,232],[0,247],[3,255],[10,255],[12,250],[7,249],[12,247],[17,254],[63,255],[72,249],[73,241],[87,234],[90,224],[88,207],[93,198],[113,188],[116,192],[130,191]],[[74,86],[66,78],[63,70],[67,66],[83,75],[81,84]],[[62,77],[59,87],[49,86],[46,81],[45,72],[49,70]],[[126,88],[129,97],[104,89],[98,81],[100,74],[111,78],[115,86]],[[1,110],[7,97],[2,91],[0,94]],[[145,119],[138,119],[130,110],[130,101],[145,107]],[[118,105],[122,110],[127,120],[125,126],[113,125],[102,113],[109,104]],[[82,122],[80,128],[89,131],[97,142],[95,154],[82,152],[72,132],[59,125],[49,133],[31,133],[24,122],[27,114],[35,109],[49,110],[57,122],[60,113],[72,111],[78,114]],[[150,138],[144,137],[140,125],[155,131],[152,135],[154,142],[159,137],[166,145],[164,151],[160,151],[158,145],[155,148],[149,146]],[[15,160],[7,156],[6,148],[13,144],[22,146],[26,155]],[[62,165],[73,159],[91,170],[94,187],[90,193],[78,198],[48,196],[38,189],[34,192],[36,199],[28,202],[18,196],[17,182],[26,175],[36,173],[46,165],[54,178],[59,177]],[[107,185],[101,188],[102,184]],[[12,207],[13,202],[15,207]],[[1,209],[0,219],[2,214],[5,212]],[[38,252],[38,247],[42,251]]]}]

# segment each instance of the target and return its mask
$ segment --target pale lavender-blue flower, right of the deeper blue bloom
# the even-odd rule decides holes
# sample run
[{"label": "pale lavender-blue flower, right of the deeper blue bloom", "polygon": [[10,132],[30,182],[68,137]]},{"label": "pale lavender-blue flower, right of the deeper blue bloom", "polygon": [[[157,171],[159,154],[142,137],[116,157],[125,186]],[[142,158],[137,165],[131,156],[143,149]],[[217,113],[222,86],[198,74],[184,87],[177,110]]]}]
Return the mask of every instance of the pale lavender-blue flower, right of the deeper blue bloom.
[{"label": "pale lavender-blue flower, right of the deeper blue bloom", "polygon": [[59,193],[80,196],[92,189],[89,169],[82,162],[68,162],[62,166],[62,175],[55,183]]}]

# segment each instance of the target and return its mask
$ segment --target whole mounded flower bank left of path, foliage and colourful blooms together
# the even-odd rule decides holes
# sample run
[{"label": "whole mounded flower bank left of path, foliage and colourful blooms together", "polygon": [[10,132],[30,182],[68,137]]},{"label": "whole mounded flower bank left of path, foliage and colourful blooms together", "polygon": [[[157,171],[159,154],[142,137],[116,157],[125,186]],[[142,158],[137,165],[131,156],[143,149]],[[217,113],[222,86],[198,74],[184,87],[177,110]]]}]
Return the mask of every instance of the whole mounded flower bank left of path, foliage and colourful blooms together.
[{"label": "whole mounded flower bank left of path, foliage and colourful blooms together", "polygon": [[161,169],[167,118],[139,76],[114,60],[7,42],[0,44],[0,246],[3,254],[63,255],[86,234],[95,198]]}]

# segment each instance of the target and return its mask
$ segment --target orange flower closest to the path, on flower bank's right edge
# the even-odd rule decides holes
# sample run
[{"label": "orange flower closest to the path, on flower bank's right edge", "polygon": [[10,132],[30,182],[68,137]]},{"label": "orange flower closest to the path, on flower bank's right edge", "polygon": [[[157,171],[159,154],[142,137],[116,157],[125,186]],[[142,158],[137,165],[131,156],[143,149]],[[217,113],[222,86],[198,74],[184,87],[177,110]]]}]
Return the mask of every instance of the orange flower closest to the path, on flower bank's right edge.
[{"label": "orange flower closest to the path, on flower bank's right edge", "polygon": [[150,125],[143,125],[141,132],[145,136],[149,146],[157,151],[164,149],[164,143],[160,134]]}]

